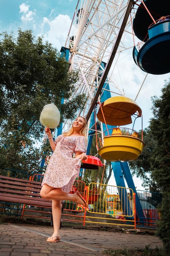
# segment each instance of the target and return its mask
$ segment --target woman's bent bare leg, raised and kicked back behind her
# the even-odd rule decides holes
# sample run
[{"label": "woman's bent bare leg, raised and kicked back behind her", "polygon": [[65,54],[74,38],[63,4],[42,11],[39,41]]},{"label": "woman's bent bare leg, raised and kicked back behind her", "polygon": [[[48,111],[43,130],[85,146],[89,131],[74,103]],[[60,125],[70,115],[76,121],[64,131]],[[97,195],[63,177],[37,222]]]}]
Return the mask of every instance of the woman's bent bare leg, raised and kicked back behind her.
[{"label": "woman's bent bare leg, raised and kicked back behind her", "polygon": [[40,191],[40,195],[42,198],[49,200],[68,200],[76,202],[77,204],[81,204],[84,207],[87,207],[85,200],[79,196],[76,192],[74,194],[65,193],[61,190],[61,188],[53,188],[47,184],[43,184],[42,189]]}]

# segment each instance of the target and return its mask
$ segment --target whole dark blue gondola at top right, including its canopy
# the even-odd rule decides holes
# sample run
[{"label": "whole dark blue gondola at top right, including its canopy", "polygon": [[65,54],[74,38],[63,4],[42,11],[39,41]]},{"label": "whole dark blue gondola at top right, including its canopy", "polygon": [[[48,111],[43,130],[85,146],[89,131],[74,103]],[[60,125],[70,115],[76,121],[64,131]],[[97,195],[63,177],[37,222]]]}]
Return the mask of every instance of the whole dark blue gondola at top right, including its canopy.
[{"label": "whole dark blue gondola at top right, including its canopy", "polygon": [[133,48],[133,59],[144,72],[166,74],[170,72],[170,1],[145,0],[144,4],[139,5],[133,20],[135,35],[144,45],[139,51]]}]

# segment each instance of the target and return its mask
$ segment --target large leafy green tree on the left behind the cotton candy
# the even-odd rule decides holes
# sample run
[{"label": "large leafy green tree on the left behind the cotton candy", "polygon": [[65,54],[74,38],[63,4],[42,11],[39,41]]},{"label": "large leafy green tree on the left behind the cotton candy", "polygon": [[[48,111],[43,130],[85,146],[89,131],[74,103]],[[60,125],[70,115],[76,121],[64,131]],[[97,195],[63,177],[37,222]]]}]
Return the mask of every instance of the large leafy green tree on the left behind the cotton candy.
[{"label": "large leafy green tree on the left behind the cotton candy", "polygon": [[49,152],[48,144],[35,144],[44,135],[43,106],[54,103],[61,122],[83,108],[84,95],[75,95],[78,73],[68,69],[61,53],[31,30],[19,29],[17,38],[0,34],[0,168],[38,172],[44,150]]}]

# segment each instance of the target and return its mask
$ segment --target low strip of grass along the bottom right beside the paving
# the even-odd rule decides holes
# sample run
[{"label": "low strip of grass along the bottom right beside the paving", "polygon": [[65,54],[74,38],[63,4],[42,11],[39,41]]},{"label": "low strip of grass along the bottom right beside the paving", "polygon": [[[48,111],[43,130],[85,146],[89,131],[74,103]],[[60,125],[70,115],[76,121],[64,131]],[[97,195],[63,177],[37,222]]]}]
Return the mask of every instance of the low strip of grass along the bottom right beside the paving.
[{"label": "low strip of grass along the bottom right beside the paving", "polygon": [[150,249],[150,245],[146,245],[143,250],[133,250],[133,249],[105,249],[102,254],[104,256],[166,256],[163,253],[163,249],[155,247],[155,249]]}]

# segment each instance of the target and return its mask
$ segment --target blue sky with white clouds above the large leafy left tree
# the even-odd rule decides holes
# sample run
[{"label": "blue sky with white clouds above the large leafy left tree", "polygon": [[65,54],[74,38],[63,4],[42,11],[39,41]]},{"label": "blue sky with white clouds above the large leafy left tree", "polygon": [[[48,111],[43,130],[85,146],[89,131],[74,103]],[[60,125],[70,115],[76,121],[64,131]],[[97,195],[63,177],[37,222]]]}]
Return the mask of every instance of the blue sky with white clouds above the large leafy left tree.
[{"label": "blue sky with white clouds above the large leafy left tree", "polygon": [[76,5],[77,0],[0,0],[0,32],[31,29],[60,50]]}]

